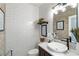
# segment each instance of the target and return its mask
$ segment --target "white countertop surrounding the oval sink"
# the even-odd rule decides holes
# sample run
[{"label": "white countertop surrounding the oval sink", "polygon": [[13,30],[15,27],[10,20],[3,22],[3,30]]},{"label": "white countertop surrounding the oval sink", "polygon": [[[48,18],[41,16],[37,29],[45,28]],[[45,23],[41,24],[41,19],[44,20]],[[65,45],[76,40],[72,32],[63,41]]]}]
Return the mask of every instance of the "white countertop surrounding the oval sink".
[{"label": "white countertop surrounding the oval sink", "polygon": [[52,56],[79,56],[79,54],[76,53],[78,51],[73,50],[73,49],[70,49],[69,51],[67,51],[65,53],[57,53],[57,52],[54,52],[54,51],[50,50],[47,47],[47,43],[48,42],[39,43],[38,46],[40,46],[42,49],[44,49],[45,51],[47,51]]}]

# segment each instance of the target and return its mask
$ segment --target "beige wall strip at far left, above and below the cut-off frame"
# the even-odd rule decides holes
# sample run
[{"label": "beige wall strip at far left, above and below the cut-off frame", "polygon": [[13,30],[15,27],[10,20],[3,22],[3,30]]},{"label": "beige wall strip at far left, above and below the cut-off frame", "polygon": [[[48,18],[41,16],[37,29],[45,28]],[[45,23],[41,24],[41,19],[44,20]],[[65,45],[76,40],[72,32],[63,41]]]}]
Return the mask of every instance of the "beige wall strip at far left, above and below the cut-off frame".
[{"label": "beige wall strip at far left, above and below the cut-off frame", "polygon": [[[0,3],[0,8],[5,12],[5,4]],[[4,55],[4,48],[5,48],[4,36],[5,36],[5,31],[1,31],[0,32],[0,55]]]}]

